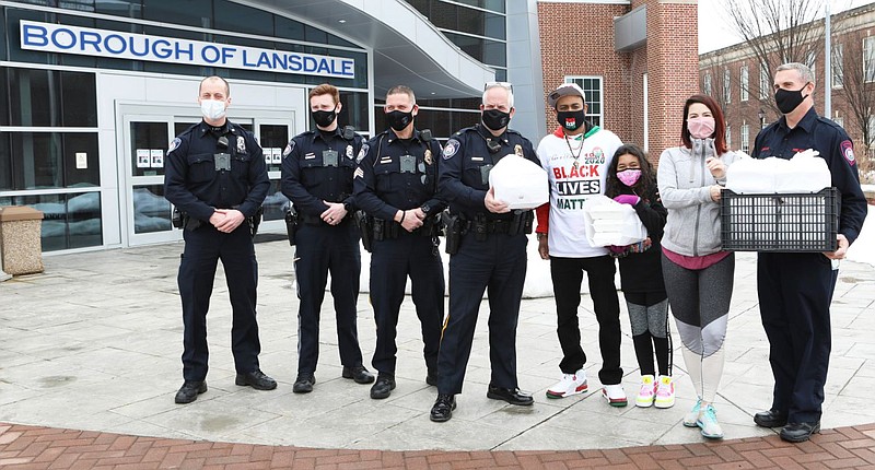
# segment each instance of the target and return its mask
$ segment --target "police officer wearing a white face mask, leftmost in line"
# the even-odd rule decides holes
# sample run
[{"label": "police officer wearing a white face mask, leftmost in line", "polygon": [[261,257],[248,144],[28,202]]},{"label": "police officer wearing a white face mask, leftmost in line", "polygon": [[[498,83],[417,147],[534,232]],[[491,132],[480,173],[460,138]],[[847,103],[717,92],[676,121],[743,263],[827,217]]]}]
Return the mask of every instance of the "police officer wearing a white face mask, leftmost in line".
[{"label": "police officer wearing a white face mask, leftmost in line", "polygon": [[252,132],[225,117],[231,90],[224,79],[203,79],[198,93],[203,120],[171,142],[164,174],[165,197],[183,213],[185,223],[177,279],[185,326],[185,383],[176,392],[177,403],[190,403],[207,391],[207,310],[219,259],[233,312],[234,383],[257,390],[277,388],[258,366],[261,344],[255,319],[258,263],[252,218],[270,187],[265,158]]}]

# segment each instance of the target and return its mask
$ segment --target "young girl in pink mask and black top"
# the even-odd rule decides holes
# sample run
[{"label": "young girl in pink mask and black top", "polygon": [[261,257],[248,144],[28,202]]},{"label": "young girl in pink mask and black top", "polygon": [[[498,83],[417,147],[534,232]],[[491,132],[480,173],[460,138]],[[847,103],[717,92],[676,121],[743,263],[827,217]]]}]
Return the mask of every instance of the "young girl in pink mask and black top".
[{"label": "young girl in pink mask and black top", "polygon": [[[665,293],[660,240],[667,211],[660,200],[656,175],[644,151],[626,144],[617,149],[608,167],[605,196],[630,204],[648,228],[644,242],[610,247],[620,262],[620,284],[632,324],[632,342],[641,368],[639,407],[669,408],[675,404],[672,381],[672,346],[668,332],[668,296]],[[653,368],[653,354],[660,368]]]}]

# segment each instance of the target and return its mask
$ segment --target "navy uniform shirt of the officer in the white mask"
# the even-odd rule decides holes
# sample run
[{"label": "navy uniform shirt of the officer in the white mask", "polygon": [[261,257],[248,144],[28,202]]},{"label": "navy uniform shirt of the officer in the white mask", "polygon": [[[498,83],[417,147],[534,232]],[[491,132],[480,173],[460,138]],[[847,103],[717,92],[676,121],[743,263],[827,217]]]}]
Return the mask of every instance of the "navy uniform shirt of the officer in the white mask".
[{"label": "navy uniform shirt of the officer in the white mask", "polygon": [[[228,146],[219,138],[228,139]],[[230,166],[230,168],[228,168]],[[255,136],[229,120],[219,128],[205,121],[171,142],[164,165],[164,197],[189,216],[207,222],[215,209],[255,214],[270,180]]]}]

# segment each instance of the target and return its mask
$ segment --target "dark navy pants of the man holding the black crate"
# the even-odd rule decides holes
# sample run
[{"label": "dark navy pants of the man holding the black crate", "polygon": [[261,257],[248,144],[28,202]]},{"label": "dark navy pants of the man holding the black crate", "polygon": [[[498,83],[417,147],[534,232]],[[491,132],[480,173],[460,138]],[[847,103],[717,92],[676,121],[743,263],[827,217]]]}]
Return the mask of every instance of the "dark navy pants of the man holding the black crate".
[{"label": "dark navy pants of the man holding the black crate", "polygon": [[829,367],[829,304],[838,270],[819,252],[759,254],[757,293],[774,375],[772,409],[792,423],[820,420]]}]

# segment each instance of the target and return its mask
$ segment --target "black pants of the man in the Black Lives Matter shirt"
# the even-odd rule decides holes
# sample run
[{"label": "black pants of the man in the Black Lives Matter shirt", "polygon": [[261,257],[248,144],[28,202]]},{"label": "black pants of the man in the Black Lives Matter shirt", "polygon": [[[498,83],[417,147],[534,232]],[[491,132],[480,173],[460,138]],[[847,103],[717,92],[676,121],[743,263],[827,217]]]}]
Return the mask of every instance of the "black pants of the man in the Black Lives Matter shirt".
[{"label": "black pants of the man in the Black Lives Matter shirt", "polygon": [[[578,307],[581,306],[583,273],[590,282],[590,295],[598,321],[598,348],[602,351],[602,369],[598,379],[604,385],[617,385],[622,380],[620,367],[620,301],[614,285],[617,266],[608,255],[593,258],[550,257],[550,277],[553,282],[559,344],[563,374],[574,374],[586,363],[581,346],[581,328]],[[654,275],[660,275],[655,273]]]}]

